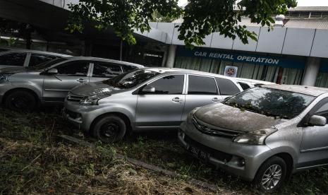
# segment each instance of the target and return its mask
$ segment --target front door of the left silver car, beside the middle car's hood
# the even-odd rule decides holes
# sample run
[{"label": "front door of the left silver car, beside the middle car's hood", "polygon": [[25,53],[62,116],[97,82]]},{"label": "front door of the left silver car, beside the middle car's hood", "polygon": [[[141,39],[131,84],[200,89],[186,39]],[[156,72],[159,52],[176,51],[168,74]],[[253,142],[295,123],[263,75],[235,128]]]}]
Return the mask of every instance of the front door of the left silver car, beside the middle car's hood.
[{"label": "front door of the left silver car, beside the middle car's hood", "polygon": [[44,73],[43,98],[46,102],[61,102],[66,98],[68,91],[77,85],[89,82],[90,61],[68,61],[53,69],[54,75]]}]

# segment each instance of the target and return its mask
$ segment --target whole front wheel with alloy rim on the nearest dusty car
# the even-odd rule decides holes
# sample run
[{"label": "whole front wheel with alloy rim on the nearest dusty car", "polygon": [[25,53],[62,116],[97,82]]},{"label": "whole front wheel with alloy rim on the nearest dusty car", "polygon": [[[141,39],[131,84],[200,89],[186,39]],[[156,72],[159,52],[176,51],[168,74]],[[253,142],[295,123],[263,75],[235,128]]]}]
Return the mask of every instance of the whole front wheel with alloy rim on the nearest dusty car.
[{"label": "whole front wheel with alloy rim on the nearest dusty car", "polygon": [[274,156],[265,161],[254,179],[254,183],[260,191],[272,192],[281,187],[286,178],[286,162]]}]

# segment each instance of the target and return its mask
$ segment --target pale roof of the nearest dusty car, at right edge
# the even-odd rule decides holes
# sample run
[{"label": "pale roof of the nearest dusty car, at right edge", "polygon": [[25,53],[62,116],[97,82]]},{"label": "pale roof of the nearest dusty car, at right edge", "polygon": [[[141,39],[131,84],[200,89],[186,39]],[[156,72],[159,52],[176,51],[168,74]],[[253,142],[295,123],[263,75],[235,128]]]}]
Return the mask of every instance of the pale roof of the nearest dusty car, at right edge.
[{"label": "pale roof of the nearest dusty car, at right edge", "polygon": [[303,93],[305,95],[319,96],[324,93],[328,93],[328,88],[317,88],[305,85],[261,85],[262,88],[272,88],[277,90],[286,90],[295,93]]}]

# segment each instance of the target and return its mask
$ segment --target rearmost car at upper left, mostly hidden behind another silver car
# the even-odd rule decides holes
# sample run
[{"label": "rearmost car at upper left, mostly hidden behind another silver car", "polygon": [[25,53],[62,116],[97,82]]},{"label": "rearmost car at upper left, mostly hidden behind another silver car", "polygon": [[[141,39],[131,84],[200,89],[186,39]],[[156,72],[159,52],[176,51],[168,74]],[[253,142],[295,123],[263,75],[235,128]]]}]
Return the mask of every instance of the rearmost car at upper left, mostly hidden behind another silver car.
[{"label": "rearmost car at upper left, mostly hidden behind another silver car", "polygon": [[0,69],[5,67],[36,66],[45,61],[61,57],[71,56],[30,49],[7,49],[2,52],[0,50]]}]

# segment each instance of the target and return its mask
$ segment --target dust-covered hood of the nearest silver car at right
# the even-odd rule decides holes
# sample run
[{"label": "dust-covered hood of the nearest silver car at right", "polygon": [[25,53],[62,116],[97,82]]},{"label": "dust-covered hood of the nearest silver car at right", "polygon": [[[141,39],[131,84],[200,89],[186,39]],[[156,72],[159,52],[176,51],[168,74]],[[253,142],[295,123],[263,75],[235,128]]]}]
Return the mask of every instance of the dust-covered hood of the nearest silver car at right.
[{"label": "dust-covered hood of the nearest silver car at right", "polygon": [[195,116],[207,124],[234,131],[260,130],[286,121],[221,103],[200,107]]}]

